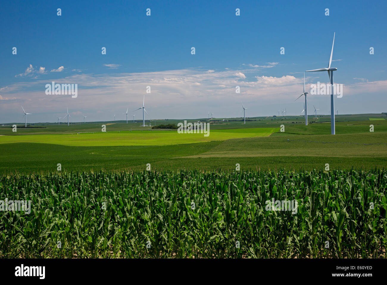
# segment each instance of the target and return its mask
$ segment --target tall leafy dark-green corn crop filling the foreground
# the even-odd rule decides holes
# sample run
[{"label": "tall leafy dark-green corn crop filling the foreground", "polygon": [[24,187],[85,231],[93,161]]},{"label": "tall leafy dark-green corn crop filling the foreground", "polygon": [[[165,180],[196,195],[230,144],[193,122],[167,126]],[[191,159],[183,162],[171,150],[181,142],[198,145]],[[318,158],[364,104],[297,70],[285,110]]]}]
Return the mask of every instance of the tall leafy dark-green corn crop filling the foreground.
[{"label": "tall leafy dark-green corn crop filling the foreground", "polygon": [[[387,171],[0,175],[0,257],[386,257]],[[267,200],[296,200],[269,211]]]}]

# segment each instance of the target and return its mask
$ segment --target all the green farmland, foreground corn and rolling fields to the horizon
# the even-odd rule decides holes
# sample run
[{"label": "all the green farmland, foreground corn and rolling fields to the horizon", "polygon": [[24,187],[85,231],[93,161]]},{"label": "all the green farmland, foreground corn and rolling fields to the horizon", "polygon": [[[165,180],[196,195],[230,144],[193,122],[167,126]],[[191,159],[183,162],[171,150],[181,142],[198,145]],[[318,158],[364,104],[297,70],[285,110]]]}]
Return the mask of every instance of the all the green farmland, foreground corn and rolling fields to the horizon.
[{"label": "all the green farmland, foreground corn and rolling fields to the horizon", "polygon": [[0,256],[385,258],[387,121],[337,118],[3,126]]}]

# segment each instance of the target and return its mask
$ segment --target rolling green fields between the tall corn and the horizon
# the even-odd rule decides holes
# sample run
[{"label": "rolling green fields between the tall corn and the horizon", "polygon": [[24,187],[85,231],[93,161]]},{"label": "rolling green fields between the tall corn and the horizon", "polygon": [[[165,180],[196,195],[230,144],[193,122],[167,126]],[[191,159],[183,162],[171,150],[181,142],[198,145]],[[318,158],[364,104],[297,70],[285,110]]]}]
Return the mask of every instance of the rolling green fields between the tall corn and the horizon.
[{"label": "rolling green fields between the tall corn and the horizon", "polygon": [[[330,169],[386,168],[387,121],[373,121],[370,132],[368,119],[383,116],[337,116],[334,136],[329,116],[309,118],[308,126],[301,116],[250,118],[246,124],[237,118],[211,121],[207,137],[122,122],[33,124],[39,128],[18,127],[15,133],[2,126],[0,173],[57,171],[58,163],[62,171],[142,170],[148,163],[152,170],[233,170],[236,164],[246,170],[312,170],[327,163]],[[107,133],[101,132],[103,123]],[[285,132],[279,131],[281,124]]]}]

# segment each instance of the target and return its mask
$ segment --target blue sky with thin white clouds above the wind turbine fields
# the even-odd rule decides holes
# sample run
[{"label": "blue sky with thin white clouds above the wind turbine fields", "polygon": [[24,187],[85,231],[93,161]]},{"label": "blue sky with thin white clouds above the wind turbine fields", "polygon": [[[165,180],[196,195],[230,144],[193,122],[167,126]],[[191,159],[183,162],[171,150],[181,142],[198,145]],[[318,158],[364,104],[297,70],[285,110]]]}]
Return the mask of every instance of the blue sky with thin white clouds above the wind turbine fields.
[{"label": "blue sky with thin white clouds above the wind turbine fields", "polygon": [[[387,112],[385,14],[385,1],[2,3],[0,122],[23,121],[20,105],[33,113],[29,122],[56,121],[66,107],[73,121],[81,114],[125,119],[122,113],[140,107],[143,95],[151,119],[208,111],[240,117],[241,100],[246,116],[284,108],[300,114],[303,101],[294,100],[303,71],[327,67],[334,32],[334,81],[344,86],[335,98],[339,114]],[[326,73],[306,76],[307,89],[329,80]],[[78,84],[77,98],[46,95],[51,81]],[[328,114],[329,95],[309,95],[308,102],[309,114],[312,105]]]}]

